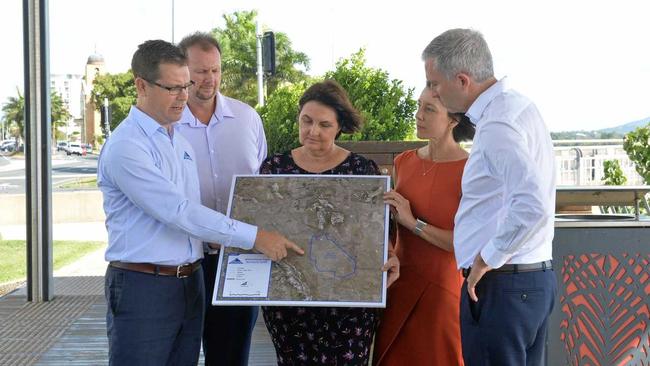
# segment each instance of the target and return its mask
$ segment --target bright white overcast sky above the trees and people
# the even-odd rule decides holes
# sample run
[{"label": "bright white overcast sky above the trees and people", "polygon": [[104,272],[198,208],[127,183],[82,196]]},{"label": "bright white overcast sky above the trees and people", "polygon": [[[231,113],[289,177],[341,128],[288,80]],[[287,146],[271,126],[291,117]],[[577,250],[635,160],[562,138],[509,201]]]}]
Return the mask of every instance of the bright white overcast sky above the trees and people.
[{"label": "bright white overcast sky above the trees and people", "polygon": [[[450,28],[483,33],[495,74],[530,97],[552,131],[593,130],[650,117],[648,0],[49,0],[52,73],[83,74],[89,55],[108,72],[129,68],[137,45],[223,26],[222,15],[256,9],[322,75],[366,48],[368,64],[415,88],[420,55]],[[0,104],[23,86],[22,1],[0,1],[5,56]],[[9,56],[7,50],[14,50]]]}]

